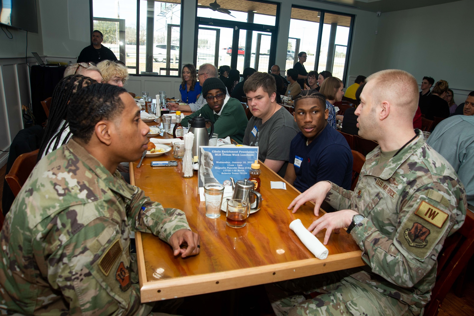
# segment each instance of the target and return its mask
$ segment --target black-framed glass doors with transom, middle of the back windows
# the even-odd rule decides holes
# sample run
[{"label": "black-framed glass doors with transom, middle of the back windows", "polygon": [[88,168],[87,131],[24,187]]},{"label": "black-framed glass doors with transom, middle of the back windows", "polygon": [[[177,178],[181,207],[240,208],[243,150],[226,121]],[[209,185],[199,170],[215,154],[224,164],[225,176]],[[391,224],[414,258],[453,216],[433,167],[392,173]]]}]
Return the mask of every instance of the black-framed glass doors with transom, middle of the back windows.
[{"label": "black-framed glass doors with transom, middle of the back windows", "polygon": [[[279,4],[271,1],[199,0],[196,66],[268,71],[273,65]],[[233,46],[236,49],[233,49]]]}]

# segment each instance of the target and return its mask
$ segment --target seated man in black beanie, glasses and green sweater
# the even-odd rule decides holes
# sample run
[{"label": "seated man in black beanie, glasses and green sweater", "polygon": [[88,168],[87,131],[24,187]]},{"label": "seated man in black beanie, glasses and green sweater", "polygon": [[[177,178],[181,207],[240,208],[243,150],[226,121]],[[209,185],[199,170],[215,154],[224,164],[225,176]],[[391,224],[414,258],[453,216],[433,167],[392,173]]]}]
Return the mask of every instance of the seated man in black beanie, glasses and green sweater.
[{"label": "seated man in black beanie, glasses and green sweater", "polygon": [[248,120],[240,101],[226,95],[226,86],[219,78],[206,79],[201,96],[207,106],[182,119],[182,125],[188,126],[194,116],[202,116],[214,124],[214,132],[219,138],[230,136],[241,144]]}]

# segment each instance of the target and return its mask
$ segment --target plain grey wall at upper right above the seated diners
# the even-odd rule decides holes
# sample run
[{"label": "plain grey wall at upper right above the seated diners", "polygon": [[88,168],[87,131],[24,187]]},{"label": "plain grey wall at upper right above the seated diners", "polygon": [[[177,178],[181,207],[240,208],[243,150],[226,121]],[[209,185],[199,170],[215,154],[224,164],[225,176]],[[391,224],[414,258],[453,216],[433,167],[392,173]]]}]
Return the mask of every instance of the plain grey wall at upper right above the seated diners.
[{"label": "plain grey wall at upper right above the seated diners", "polygon": [[463,0],[382,13],[373,70],[406,70],[419,83],[423,76],[446,80],[463,103],[474,90],[473,12],[474,1]]}]

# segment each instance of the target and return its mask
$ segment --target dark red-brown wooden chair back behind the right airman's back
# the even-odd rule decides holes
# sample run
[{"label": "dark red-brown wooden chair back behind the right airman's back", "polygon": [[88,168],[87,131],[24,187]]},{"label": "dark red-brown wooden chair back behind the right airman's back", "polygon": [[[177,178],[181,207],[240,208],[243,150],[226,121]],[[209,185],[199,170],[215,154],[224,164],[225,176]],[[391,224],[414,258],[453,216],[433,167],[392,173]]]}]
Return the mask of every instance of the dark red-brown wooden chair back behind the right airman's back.
[{"label": "dark red-brown wooden chair back behind the right airman's back", "polygon": [[438,315],[439,307],[447,292],[474,255],[474,213],[469,210],[466,212],[463,226],[446,238],[443,249],[438,255],[438,275],[424,316]]}]

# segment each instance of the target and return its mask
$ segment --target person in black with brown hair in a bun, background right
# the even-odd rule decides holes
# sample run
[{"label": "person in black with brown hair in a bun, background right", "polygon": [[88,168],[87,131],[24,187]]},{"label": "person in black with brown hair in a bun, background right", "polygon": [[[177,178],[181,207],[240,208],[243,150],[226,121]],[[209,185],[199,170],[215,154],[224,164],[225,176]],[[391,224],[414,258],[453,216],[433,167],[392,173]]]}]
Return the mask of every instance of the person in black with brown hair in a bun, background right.
[{"label": "person in black with brown hair in a bun, background right", "polygon": [[447,118],[449,116],[449,105],[444,99],[448,93],[449,86],[447,81],[439,80],[435,87],[431,90],[431,94],[425,97],[419,107],[421,114],[425,114],[425,118],[433,120],[433,118]]}]

